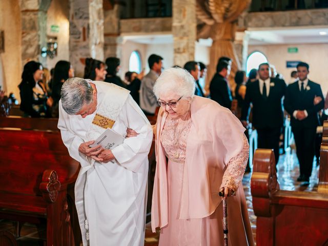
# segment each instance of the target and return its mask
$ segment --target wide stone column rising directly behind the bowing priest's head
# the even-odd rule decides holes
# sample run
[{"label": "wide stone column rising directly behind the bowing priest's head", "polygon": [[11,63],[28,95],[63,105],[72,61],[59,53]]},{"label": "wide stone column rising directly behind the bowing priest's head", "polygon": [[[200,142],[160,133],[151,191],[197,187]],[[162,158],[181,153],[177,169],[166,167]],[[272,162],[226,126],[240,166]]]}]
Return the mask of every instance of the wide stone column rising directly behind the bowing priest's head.
[{"label": "wide stone column rising directly behind the bowing priest's head", "polygon": [[70,62],[83,77],[85,58],[104,60],[103,0],[70,0]]}]

